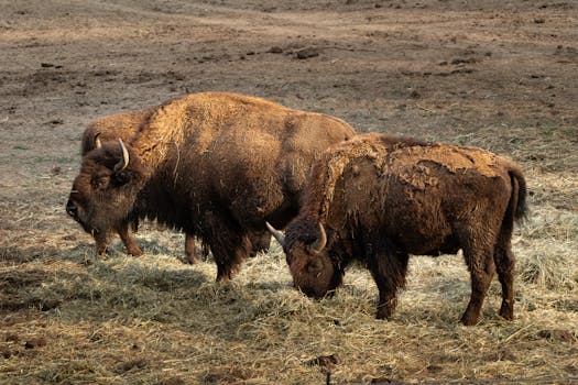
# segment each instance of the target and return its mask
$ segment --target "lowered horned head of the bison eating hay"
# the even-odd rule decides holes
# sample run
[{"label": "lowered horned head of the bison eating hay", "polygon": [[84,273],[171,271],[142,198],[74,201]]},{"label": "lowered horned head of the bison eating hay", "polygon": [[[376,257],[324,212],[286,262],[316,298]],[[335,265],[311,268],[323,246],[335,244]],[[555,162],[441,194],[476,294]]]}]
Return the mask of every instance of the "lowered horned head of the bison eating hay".
[{"label": "lowered horned head of the bison eating hay", "polygon": [[320,298],[341,285],[342,272],[329,255],[321,223],[295,220],[285,237],[271,224],[269,231],[283,246],[295,286],[308,297]]}]

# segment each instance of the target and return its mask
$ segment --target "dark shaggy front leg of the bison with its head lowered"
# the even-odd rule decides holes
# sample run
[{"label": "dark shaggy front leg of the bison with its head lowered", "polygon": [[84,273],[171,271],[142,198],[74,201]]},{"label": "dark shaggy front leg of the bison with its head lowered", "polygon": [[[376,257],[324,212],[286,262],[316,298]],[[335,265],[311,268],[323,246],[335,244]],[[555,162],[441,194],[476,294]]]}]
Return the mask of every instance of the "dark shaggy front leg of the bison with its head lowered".
[{"label": "dark shaggy front leg of the bison with its head lowered", "polygon": [[405,286],[410,256],[389,240],[366,243],[368,266],[380,292],[378,319],[389,319],[397,305],[397,289]]}]

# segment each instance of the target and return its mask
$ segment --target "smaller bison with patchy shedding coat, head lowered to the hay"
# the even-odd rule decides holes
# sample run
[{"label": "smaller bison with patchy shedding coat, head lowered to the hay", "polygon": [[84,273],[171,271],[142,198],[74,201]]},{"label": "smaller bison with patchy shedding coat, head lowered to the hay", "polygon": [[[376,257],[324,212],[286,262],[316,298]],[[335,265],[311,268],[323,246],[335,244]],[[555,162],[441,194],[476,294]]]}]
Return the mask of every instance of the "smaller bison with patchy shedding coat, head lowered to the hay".
[{"label": "smaller bison with patchy shedding coat, head lowered to the hay", "polygon": [[283,245],[295,285],[321,297],[341,285],[346,266],[367,263],[389,318],[405,284],[408,254],[455,254],[471,275],[461,317],[478,321],[498,271],[500,316],[513,319],[514,220],[526,213],[526,183],[512,161],[488,151],[366,134],[331,146],[314,164],[298,216]]}]

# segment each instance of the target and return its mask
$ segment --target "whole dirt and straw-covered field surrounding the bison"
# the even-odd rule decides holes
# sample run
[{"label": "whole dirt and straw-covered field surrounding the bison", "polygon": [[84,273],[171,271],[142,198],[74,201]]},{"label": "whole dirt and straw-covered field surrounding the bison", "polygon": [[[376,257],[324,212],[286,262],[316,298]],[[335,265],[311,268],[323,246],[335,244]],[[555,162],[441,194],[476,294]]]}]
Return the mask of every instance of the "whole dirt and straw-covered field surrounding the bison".
[{"label": "whole dirt and straw-covered field surrounding the bison", "polygon": [[[0,0],[1,384],[578,383],[578,4],[498,0]],[[460,255],[411,260],[390,321],[353,266],[293,289],[281,248],[228,285],[145,223],[107,258],[64,210],[80,135],[109,113],[227,90],[359,132],[516,160],[515,320],[476,327]],[[328,380],[329,377],[329,380]]]}]

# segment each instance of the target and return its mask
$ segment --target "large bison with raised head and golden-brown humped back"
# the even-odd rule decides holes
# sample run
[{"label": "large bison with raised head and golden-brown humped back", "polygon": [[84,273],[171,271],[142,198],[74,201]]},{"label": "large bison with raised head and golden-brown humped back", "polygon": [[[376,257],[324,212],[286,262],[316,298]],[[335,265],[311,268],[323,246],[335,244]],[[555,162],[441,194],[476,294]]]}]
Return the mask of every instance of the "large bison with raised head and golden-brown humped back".
[{"label": "large bison with raised head and golden-brown humped back", "polygon": [[225,92],[190,95],[142,117],[126,144],[103,142],[84,156],[67,211],[99,248],[134,216],[199,237],[225,280],[251,238],[270,239],[265,220],[282,227],[297,215],[314,160],[355,135],[332,117]]}]

